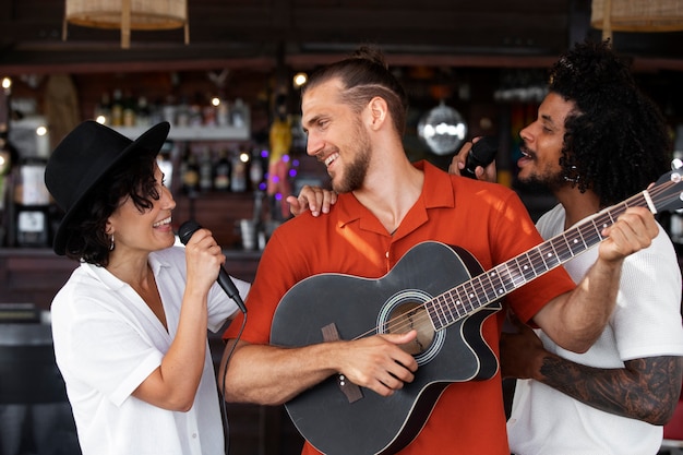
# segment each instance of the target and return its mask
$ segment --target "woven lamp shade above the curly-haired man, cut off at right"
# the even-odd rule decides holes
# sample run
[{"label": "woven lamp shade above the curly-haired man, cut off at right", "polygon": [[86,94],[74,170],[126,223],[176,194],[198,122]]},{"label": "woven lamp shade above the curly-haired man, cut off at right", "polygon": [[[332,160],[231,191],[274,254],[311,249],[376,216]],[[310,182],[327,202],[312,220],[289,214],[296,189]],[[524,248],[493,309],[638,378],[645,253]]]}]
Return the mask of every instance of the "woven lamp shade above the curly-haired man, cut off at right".
[{"label": "woven lamp shade above the curly-haired man, cut off at right", "polygon": [[590,25],[602,38],[614,32],[683,31],[681,0],[592,0]]}]

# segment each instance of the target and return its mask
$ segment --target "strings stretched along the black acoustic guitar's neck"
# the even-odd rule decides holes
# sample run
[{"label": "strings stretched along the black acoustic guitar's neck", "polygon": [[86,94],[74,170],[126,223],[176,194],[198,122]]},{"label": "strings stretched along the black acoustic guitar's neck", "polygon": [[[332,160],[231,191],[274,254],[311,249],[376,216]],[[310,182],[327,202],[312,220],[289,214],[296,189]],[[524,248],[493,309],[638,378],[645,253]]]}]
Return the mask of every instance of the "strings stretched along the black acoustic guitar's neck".
[{"label": "strings stretched along the black acoustic guitar's neck", "polygon": [[[652,197],[652,200],[658,200],[658,197],[662,194],[667,194],[669,192],[669,188],[678,184],[676,182],[673,181],[667,181],[664,183],[661,183],[655,188],[652,188],[651,190],[648,190],[648,194]],[[574,230],[577,230],[579,236],[583,239],[595,239],[596,236],[599,237],[599,241],[602,241],[602,235],[600,234],[602,229],[598,229],[598,225],[596,224],[596,221],[601,221],[599,223],[601,226],[607,227],[607,220],[609,219],[611,221],[611,224],[609,224],[609,226],[613,225],[615,223],[615,218],[618,218],[621,214],[623,214],[626,208],[631,207],[631,206],[639,206],[639,207],[646,207],[646,208],[650,208],[649,205],[647,204],[646,199],[644,197],[644,193],[637,193],[635,195],[633,195],[632,197],[627,199],[626,201],[615,204],[609,208],[607,208],[603,212],[600,212],[597,214],[597,216],[595,218],[590,218],[585,220],[584,223],[582,223],[580,225],[575,226]],[[578,254],[574,254],[570,244],[566,242],[566,238],[565,235],[566,232],[568,232],[572,229],[567,229],[566,231],[564,231],[563,234],[555,236],[551,239],[549,239],[548,241],[541,243],[540,246],[519,254],[516,258],[513,258],[510,261],[506,261],[505,263],[499,264],[498,266],[493,267],[491,271],[487,272],[487,273],[481,273],[479,275],[476,275],[474,277],[471,277],[468,282],[462,283],[458,286],[456,286],[455,288],[447,290],[430,300],[427,300],[424,302],[422,302],[421,304],[416,306],[415,308],[412,308],[410,310],[410,312],[416,313],[417,315],[412,319],[406,319],[404,314],[400,314],[398,316],[395,316],[393,319],[390,319],[388,321],[384,322],[382,326],[378,326],[374,327],[373,330],[370,330],[363,334],[358,335],[357,337],[355,337],[354,339],[359,339],[366,336],[370,336],[372,334],[375,333],[388,333],[390,332],[390,327],[392,328],[392,333],[406,333],[409,330],[414,328],[416,325],[418,324],[423,324],[423,323],[429,323],[431,325],[431,327],[434,331],[439,331],[439,330],[443,330],[445,327],[447,327],[448,325],[459,321],[460,319],[474,314],[476,311],[475,310],[481,310],[482,308],[484,308],[487,304],[490,304],[492,302],[494,302],[495,300],[504,297],[505,295],[510,294],[512,290],[515,290],[517,287],[525,285],[526,283],[536,279],[536,277],[544,274],[546,272],[554,268],[558,265],[561,265],[562,263],[568,261],[562,261],[560,262],[558,265],[548,268],[547,267],[547,261],[543,259],[542,255],[538,254],[538,258],[530,260],[531,265],[532,265],[532,271],[536,271],[538,268],[547,268],[546,271],[543,271],[541,274],[536,274],[536,272],[534,272],[534,276],[530,279],[527,279],[524,276],[524,273],[519,273],[518,275],[515,274],[511,274],[510,270],[508,270],[508,264],[511,262],[517,262],[518,259],[520,256],[528,256],[529,254],[531,254],[531,252],[538,251],[539,248],[543,247],[543,246],[550,246],[553,249],[553,252],[555,254],[555,259],[560,258],[560,254],[558,254],[558,252],[555,251],[555,247],[553,246],[553,242],[556,242],[560,239],[564,240],[564,244],[566,244],[567,247],[567,251],[571,252],[571,256],[574,258],[585,251],[588,251],[590,248],[595,247],[597,243],[591,244],[591,246],[587,246],[587,248],[585,248],[584,250],[582,250]],[[570,259],[572,259],[570,258]],[[505,268],[504,271],[502,268]],[[505,288],[505,285],[503,284],[502,278],[500,278],[501,276],[501,272],[503,272],[503,275],[507,277],[508,283],[511,283],[514,288],[512,290],[505,290],[504,294],[499,295],[499,292],[495,291],[494,286],[493,286],[493,282],[491,280],[490,277],[490,272],[493,272],[495,276],[499,277],[499,280],[501,280],[501,284],[503,285],[503,289]],[[488,279],[484,279],[488,278]],[[515,285],[515,280],[516,279],[523,279],[524,283],[522,285]],[[478,280],[479,282],[479,286],[477,286],[476,284],[472,284],[472,282]],[[483,282],[483,283],[482,283]],[[482,303],[477,295],[477,292],[470,292],[468,294],[468,298],[467,299],[463,299],[460,297],[460,292],[458,292],[458,289],[464,288],[465,286],[470,285],[472,287],[472,290],[478,291],[478,290],[482,290],[483,291],[483,296],[489,299],[490,295],[495,296],[495,298],[489,299],[489,300],[484,300],[484,302]],[[465,290],[465,289],[463,289]],[[453,295],[457,294],[458,295],[458,299],[454,300]],[[458,310],[459,307],[465,307],[465,303],[463,303],[465,300],[471,300],[471,297],[476,297],[477,298],[477,302],[475,302],[476,304],[474,304],[470,301],[470,310],[464,309],[464,314],[460,314],[460,311]],[[444,300],[446,306],[441,306],[440,303],[438,303],[439,301]],[[439,304],[439,308],[436,308],[436,306]],[[420,309],[423,309],[424,311],[418,311]],[[434,320],[440,320],[442,319],[438,313],[440,312],[439,310],[441,310],[441,314],[443,314],[444,316],[446,316],[447,319],[447,314],[446,311],[451,314],[451,316],[453,316],[454,314],[454,310],[457,313],[457,318],[453,319],[448,324],[436,328],[434,325]],[[436,314],[435,314],[436,313]],[[399,321],[402,320],[403,321]]]}]

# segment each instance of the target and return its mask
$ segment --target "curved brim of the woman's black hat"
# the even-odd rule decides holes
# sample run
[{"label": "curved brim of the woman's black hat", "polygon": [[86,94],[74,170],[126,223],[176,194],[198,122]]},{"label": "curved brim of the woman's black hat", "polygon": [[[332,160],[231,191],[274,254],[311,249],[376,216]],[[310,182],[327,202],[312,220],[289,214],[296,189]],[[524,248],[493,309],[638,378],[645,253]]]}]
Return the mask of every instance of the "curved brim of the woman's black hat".
[{"label": "curved brim of the woman's black hat", "polygon": [[82,208],[83,202],[89,194],[89,190],[96,187],[103,178],[109,172],[109,170],[129,156],[133,152],[141,152],[151,155],[158,155],[161,151],[161,146],[168,137],[170,125],[167,122],[155,124],[135,141],[131,142],[121,153],[112,160],[108,163],[108,166],[100,169],[98,176],[92,179],[88,187],[81,192],[81,195],[72,203],[69,211],[67,211],[55,232],[55,239],[52,241],[52,249],[59,255],[64,255],[67,252],[67,240],[69,239],[69,225],[73,220],[76,213]]}]

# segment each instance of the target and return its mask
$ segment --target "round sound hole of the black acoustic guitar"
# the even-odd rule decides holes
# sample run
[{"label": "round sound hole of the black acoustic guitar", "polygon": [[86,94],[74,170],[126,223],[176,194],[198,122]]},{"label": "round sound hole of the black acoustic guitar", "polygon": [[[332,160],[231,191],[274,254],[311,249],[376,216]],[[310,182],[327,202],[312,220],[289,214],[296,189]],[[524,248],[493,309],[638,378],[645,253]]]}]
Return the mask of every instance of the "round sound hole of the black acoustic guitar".
[{"label": "round sound hole of the black acoustic guitar", "polygon": [[421,302],[404,302],[394,308],[390,313],[386,328],[387,333],[395,334],[418,331],[414,342],[402,346],[403,350],[412,356],[424,352],[434,340],[434,327]]}]

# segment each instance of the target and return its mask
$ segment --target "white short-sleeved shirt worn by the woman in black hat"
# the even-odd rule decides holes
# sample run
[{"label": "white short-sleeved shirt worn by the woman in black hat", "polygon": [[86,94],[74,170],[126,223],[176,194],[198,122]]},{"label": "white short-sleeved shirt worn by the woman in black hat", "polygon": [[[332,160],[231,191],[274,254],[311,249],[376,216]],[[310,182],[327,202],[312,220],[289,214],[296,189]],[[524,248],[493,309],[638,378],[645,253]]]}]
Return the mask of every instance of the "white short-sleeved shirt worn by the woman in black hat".
[{"label": "white short-sleeved shirt worn by the woman in black hat", "polygon": [[[170,411],[133,397],[161,364],[176,336],[185,286],[182,248],[152,253],[168,332],[132,287],[106,268],[81,264],[51,307],[57,364],[67,383],[83,455],[225,454],[214,366],[206,345],[194,405]],[[235,280],[245,297],[249,284]],[[218,285],[208,295],[208,328],[237,306]]]}]

